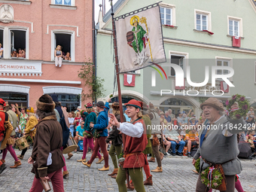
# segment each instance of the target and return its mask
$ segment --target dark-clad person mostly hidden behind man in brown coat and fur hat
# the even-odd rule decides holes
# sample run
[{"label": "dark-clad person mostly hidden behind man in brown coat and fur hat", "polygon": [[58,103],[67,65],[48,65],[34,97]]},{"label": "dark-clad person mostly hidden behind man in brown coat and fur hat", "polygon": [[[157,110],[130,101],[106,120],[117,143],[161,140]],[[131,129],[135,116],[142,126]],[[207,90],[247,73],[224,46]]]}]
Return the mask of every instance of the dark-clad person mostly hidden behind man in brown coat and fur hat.
[{"label": "dark-clad person mostly hidden behind man in brown coat and fur hat", "polygon": [[[55,102],[54,112],[56,114],[56,119],[57,119],[57,121],[59,121],[60,125],[62,126],[62,136],[63,136],[62,150],[63,150],[63,146],[66,145],[66,143],[68,142],[68,139],[69,139],[69,129],[68,129],[68,131],[66,129],[67,127],[69,128],[69,118],[68,118],[66,109],[61,107],[58,96],[56,96],[54,94],[51,96],[51,98],[53,99],[53,102]],[[62,117],[64,117],[65,120]],[[66,123],[66,125],[65,125],[65,123]],[[69,153],[68,155],[69,155],[68,159],[70,159],[73,156],[72,153]],[[65,157],[63,156],[63,154],[62,154],[62,157],[63,157],[64,163],[65,163],[65,166],[63,166],[62,175],[63,175],[63,178],[67,178],[69,176],[69,171],[67,170],[66,160],[65,160]]]}]

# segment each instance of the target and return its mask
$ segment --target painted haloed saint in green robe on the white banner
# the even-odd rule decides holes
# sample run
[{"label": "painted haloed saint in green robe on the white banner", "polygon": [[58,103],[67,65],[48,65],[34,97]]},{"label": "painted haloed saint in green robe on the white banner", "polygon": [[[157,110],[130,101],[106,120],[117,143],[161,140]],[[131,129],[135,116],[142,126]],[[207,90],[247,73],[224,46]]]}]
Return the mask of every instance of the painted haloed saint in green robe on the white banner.
[{"label": "painted haloed saint in green robe on the white banner", "polygon": [[131,18],[130,24],[133,26],[133,29],[126,33],[126,38],[127,43],[130,47],[133,47],[133,50],[136,52],[136,59],[133,61],[134,65],[142,66],[149,58],[146,53],[148,30],[146,32],[145,29],[139,25],[139,20],[139,17],[136,15]]}]

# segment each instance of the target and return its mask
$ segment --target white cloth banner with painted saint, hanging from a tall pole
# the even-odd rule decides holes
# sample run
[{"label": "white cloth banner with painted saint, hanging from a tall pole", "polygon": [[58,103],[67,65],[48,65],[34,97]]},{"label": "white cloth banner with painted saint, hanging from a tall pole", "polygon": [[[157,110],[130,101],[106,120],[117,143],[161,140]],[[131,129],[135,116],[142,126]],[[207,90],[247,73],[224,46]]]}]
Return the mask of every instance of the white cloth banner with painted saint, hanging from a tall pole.
[{"label": "white cloth banner with painted saint, hanging from a tall pole", "polygon": [[133,12],[115,18],[121,73],[166,62],[159,5]]}]

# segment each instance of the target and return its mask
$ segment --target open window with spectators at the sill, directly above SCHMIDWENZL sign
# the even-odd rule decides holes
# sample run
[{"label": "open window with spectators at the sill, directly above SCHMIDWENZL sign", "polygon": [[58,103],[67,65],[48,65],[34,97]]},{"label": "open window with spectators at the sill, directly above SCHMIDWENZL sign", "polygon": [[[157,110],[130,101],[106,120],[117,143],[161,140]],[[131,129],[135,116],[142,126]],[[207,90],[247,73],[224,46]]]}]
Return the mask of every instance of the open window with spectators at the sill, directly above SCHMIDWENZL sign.
[{"label": "open window with spectators at the sill, directly above SCHMIDWENZL sign", "polygon": [[11,37],[11,58],[26,58],[26,31],[10,30]]}]

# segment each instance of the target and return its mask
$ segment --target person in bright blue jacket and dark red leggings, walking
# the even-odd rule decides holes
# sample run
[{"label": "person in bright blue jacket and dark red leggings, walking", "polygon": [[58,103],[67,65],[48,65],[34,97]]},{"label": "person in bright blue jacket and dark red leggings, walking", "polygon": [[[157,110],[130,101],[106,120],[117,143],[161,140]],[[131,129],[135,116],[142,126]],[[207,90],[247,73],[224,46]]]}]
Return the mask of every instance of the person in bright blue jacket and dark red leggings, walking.
[{"label": "person in bright blue jacket and dark red leggings, walking", "polygon": [[[78,111],[81,111],[81,109],[78,109]],[[89,148],[93,151],[94,145],[93,145],[93,128],[90,127],[90,123],[96,124],[96,113],[93,111],[93,105],[88,102],[86,105],[86,111],[81,111],[81,114],[84,114],[86,116],[85,122],[84,122],[84,151],[83,151],[83,157],[81,160],[78,160],[78,162],[86,162],[87,157],[87,145],[89,145]],[[97,156],[99,157],[99,161],[102,162],[102,156],[99,154],[99,151],[97,152]],[[100,162],[96,163],[100,163]]]}]

